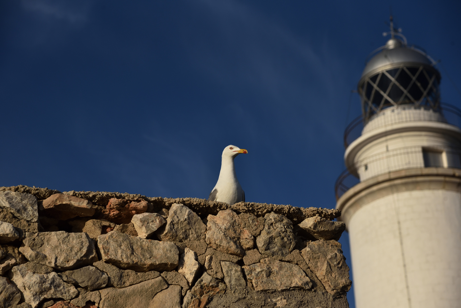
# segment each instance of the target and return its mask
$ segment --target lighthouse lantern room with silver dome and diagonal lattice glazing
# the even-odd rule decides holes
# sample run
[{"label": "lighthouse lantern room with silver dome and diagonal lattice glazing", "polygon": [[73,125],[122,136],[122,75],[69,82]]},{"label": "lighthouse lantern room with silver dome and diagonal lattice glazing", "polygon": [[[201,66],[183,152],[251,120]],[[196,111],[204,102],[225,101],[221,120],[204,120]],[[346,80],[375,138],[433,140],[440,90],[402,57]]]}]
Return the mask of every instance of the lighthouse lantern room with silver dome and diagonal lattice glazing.
[{"label": "lighthouse lantern room with silver dome and diagonal lattice glazing", "polygon": [[403,104],[440,112],[440,73],[435,61],[419,48],[408,47],[392,19],[390,32],[383,35],[387,34],[390,40],[367,62],[357,86],[364,122],[385,108]]}]

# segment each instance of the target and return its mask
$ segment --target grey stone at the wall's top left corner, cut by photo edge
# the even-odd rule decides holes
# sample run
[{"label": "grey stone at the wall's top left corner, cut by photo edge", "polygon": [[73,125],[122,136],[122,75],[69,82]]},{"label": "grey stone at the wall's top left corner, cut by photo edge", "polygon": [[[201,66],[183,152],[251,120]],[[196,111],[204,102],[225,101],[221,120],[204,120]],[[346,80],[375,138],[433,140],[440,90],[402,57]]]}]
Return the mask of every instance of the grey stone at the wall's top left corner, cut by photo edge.
[{"label": "grey stone at the wall's top left corner, cut by photo edge", "polygon": [[37,199],[30,193],[0,192],[0,208],[10,211],[18,219],[38,221]]}]

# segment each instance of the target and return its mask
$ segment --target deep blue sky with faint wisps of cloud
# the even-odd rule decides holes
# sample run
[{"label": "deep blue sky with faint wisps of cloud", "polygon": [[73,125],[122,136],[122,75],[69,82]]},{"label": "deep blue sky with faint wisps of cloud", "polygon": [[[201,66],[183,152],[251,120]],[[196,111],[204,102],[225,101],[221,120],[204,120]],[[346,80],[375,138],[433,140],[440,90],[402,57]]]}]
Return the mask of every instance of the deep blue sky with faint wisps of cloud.
[{"label": "deep blue sky with faint wisps of cloud", "polygon": [[390,5],[461,107],[458,1],[3,0],[0,186],[207,198],[233,144],[247,201],[332,208]]}]

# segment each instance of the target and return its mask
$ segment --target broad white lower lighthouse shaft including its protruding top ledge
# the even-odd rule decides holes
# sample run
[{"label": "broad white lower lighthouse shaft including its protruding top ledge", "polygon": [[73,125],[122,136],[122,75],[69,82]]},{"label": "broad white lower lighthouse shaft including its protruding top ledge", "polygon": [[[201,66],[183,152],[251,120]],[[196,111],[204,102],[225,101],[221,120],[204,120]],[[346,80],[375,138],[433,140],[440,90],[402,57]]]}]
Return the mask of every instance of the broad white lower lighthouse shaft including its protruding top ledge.
[{"label": "broad white lower lighthouse shaft including its protruding top ledge", "polygon": [[349,231],[357,308],[461,307],[460,169],[378,176],[337,208]]}]

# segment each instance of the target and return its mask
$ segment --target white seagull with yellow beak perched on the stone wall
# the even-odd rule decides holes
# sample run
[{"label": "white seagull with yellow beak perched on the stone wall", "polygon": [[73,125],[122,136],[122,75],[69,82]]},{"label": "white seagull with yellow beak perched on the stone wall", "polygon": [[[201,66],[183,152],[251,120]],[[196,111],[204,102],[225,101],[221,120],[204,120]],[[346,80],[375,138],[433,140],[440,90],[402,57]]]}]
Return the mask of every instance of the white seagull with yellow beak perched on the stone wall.
[{"label": "white seagull with yellow beak perched on the stone wall", "polygon": [[248,151],[235,145],[226,146],[221,156],[218,182],[208,196],[208,201],[225,202],[230,205],[245,201],[245,192],[237,180],[234,166],[234,158],[241,153],[247,154]]}]

